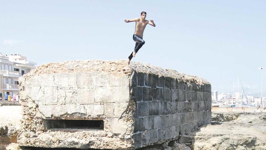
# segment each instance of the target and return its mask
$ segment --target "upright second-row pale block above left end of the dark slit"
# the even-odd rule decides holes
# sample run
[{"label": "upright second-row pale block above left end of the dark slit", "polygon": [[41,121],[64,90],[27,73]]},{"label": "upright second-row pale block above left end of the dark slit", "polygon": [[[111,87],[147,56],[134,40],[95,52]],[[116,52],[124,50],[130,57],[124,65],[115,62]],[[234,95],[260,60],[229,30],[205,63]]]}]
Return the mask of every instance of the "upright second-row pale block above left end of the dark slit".
[{"label": "upright second-row pale block above left end of the dark slit", "polygon": [[54,86],[44,87],[45,105],[56,105],[57,104],[56,91],[57,91],[57,87],[54,87]]}]

